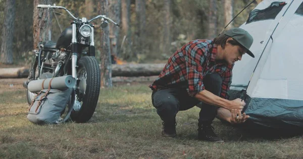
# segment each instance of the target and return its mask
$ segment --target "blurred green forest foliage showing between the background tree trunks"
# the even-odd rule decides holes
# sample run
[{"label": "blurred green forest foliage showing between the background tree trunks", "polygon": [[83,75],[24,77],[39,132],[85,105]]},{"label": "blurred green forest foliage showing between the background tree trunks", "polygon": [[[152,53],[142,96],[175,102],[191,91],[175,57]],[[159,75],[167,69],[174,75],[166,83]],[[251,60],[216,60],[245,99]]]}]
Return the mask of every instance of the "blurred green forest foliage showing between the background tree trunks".
[{"label": "blurred green forest foliage showing between the background tree trunks", "polygon": [[[91,0],[94,3],[97,1]],[[131,1],[131,19],[130,26],[132,32],[132,38],[127,39],[124,42],[124,49],[121,49],[121,42],[123,35],[119,37],[118,43],[118,56],[128,61],[134,62],[151,62],[153,60],[166,60],[173,52],[182,46],[187,41],[194,39],[205,39],[208,32],[208,13],[209,3],[208,1],[200,0],[172,0],[172,27],[171,27],[171,39],[173,45],[166,52],[160,51],[160,46],[163,43],[163,27],[165,25],[163,17],[165,15],[164,2],[162,0],[146,0],[146,39],[144,40],[143,52],[136,52],[134,49],[130,49],[129,45],[135,46],[134,33],[136,30],[136,14],[135,14],[135,1]],[[97,4],[93,6],[92,12],[86,12],[85,2],[82,0],[53,0],[57,6],[64,6],[67,9],[76,13],[80,18],[87,17],[91,19],[96,16],[98,12]],[[250,1],[234,1],[234,16],[238,14]],[[6,1],[0,0],[0,22],[4,20],[4,7]],[[16,1],[16,20],[15,20],[15,33],[14,33],[14,59],[24,59],[26,62],[30,60],[28,52],[32,51],[33,42],[33,28],[32,28],[32,14],[33,14],[33,0]],[[249,6],[243,11],[233,22],[234,27],[238,27],[243,24],[249,12],[256,7],[256,3]],[[51,10],[50,10],[51,11]],[[69,16],[63,10],[53,10],[55,12],[62,13]],[[54,14],[54,13],[49,13]],[[224,10],[223,0],[217,0],[217,28],[218,33],[225,27],[224,25]],[[55,17],[52,15],[52,40],[56,42],[61,32],[56,22]],[[59,24],[62,28],[70,26],[71,20],[65,16],[57,14]],[[94,21],[94,24],[98,26],[99,20]],[[0,26],[0,33],[2,26]],[[121,33],[121,32],[120,32]],[[180,39],[180,35],[185,35]],[[100,38],[102,36],[102,29],[95,28],[95,46],[97,55],[102,51],[100,44]],[[5,40],[5,38],[1,38]],[[136,52],[136,57],[128,54]],[[98,56],[99,57],[99,56]]]}]

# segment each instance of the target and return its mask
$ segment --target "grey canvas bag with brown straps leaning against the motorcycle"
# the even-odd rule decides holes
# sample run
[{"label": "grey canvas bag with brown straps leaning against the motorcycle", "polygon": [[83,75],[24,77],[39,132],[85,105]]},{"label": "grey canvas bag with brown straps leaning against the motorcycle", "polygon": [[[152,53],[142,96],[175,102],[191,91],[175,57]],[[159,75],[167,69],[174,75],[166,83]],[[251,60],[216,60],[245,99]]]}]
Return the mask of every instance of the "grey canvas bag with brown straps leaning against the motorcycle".
[{"label": "grey canvas bag with brown straps leaning against the motorcycle", "polygon": [[[51,83],[51,82],[50,82]],[[41,90],[33,99],[27,119],[35,124],[59,124],[65,122],[73,110],[75,91],[48,89]],[[68,112],[64,119],[61,115],[68,105]]]}]

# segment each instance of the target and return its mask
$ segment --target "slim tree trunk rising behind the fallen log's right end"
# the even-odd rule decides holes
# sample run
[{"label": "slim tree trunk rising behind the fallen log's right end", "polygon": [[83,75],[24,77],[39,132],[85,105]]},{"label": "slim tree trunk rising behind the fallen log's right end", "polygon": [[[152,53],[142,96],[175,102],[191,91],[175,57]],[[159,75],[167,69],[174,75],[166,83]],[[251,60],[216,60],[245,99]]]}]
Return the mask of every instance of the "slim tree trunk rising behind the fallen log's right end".
[{"label": "slim tree trunk rising behind the fallen log's right end", "polygon": [[171,24],[172,24],[172,1],[164,1],[164,26],[163,26],[163,43],[161,51],[163,53],[170,52],[171,46]]}]

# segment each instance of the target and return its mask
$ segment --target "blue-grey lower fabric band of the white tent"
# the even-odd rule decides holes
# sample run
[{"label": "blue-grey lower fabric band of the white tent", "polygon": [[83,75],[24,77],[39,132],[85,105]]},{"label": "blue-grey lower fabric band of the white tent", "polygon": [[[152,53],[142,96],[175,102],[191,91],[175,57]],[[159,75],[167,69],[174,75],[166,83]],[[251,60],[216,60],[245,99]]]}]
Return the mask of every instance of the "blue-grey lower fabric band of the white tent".
[{"label": "blue-grey lower fabric band of the white tent", "polygon": [[249,120],[273,128],[303,127],[303,101],[252,98],[245,113]]}]

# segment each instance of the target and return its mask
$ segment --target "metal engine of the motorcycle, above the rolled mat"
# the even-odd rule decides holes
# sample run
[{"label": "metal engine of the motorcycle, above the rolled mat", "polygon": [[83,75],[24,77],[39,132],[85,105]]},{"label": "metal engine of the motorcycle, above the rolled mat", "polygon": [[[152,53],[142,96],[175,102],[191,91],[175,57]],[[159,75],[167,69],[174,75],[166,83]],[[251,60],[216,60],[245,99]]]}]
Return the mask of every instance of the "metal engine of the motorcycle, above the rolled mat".
[{"label": "metal engine of the motorcycle, above the rolled mat", "polygon": [[65,50],[57,50],[52,57],[53,77],[63,75],[60,72],[61,66],[65,63],[67,52]]}]

